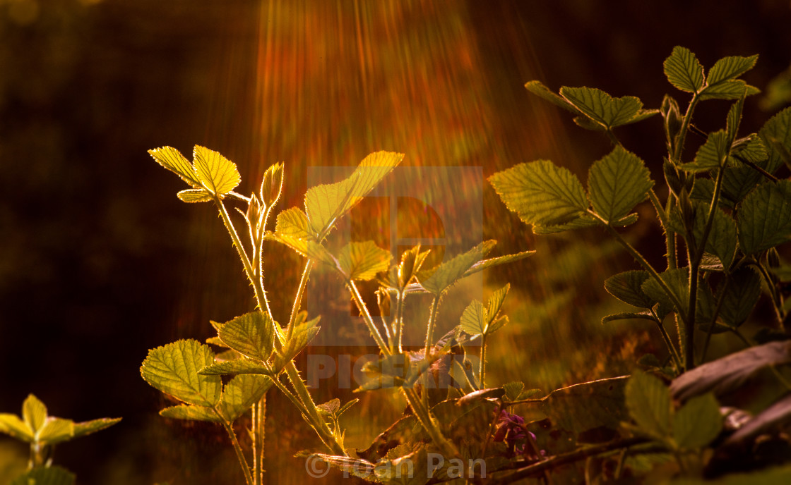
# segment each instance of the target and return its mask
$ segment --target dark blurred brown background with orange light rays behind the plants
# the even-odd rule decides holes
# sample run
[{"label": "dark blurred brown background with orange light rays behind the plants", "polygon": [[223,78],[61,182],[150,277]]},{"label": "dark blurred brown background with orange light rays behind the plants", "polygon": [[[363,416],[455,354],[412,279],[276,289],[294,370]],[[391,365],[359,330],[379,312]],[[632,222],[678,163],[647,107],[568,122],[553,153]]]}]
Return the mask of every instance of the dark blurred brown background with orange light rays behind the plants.
[{"label": "dark blurred brown background with orange light rays behind the plants", "polygon": [[[218,150],[239,165],[248,192],[285,161],[282,209],[301,204],[309,167],[356,165],[379,149],[406,153],[407,166],[481,167],[484,177],[536,159],[584,177],[609,142],[529,95],[526,81],[659,107],[673,91],[662,61],[683,45],[704,66],[759,54],[745,78],[764,88],[791,62],[789,24],[789,2],[772,0],[0,0],[0,411],[19,412],[35,393],[53,415],[123,416],[57,450],[78,483],[240,483],[223,431],[160,418],[165,400],[139,375],[149,348],[204,339],[209,319],[252,308],[213,209],[180,203],[180,180],[147,149]],[[727,107],[713,102],[698,126],[717,129]],[[768,115],[747,103],[745,133]],[[660,130],[657,117],[619,133],[655,175]],[[602,280],[632,267],[603,235],[536,238],[487,184],[474,192],[498,254],[540,254],[483,278],[485,295],[505,281],[513,288],[490,383],[550,390],[661,352],[649,327],[600,325],[615,307]],[[445,203],[470,203],[464,196]],[[377,210],[353,215],[363,221],[354,237],[377,239],[377,224],[365,224]],[[444,234],[419,208],[404,211],[416,234]],[[643,215],[630,237],[660,261],[659,234]],[[300,261],[277,247],[271,261],[268,289],[283,318]],[[444,309],[441,327],[461,310]],[[319,401],[331,397],[352,396],[331,381],[316,390]],[[274,392],[268,408],[271,483],[302,483],[292,455],[316,439]],[[387,394],[366,397],[343,422],[347,442],[367,446],[401,412]],[[25,453],[0,437],[0,483],[25,466]]]}]

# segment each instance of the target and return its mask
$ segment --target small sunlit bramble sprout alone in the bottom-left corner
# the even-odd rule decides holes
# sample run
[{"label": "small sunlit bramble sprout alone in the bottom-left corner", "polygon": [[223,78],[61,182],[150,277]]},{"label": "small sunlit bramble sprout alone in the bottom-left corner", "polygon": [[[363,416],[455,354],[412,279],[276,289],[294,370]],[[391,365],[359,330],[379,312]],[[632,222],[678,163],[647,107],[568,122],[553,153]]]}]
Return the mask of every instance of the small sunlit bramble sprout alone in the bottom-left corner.
[{"label": "small sunlit bramble sprout alone in the bottom-left corner", "polygon": [[74,474],[52,464],[55,446],[104,430],[120,420],[101,418],[74,423],[71,419],[56,418],[48,415],[47,406],[30,394],[22,403],[21,416],[0,413],[0,433],[30,445],[28,471],[14,479],[11,485],[71,485]]}]

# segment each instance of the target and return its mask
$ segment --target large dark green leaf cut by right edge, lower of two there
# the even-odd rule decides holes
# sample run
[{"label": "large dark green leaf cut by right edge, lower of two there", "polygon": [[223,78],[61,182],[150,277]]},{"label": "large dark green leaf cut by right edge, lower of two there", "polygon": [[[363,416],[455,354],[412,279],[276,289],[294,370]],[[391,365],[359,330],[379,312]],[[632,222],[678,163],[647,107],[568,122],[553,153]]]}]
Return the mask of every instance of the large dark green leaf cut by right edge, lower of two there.
[{"label": "large dark green leaf cut by right edge, lower of two there", "polygon": [[736,225],[744,254],[756,254],[791,238],[791,181],[764,182],[744,197]]}]

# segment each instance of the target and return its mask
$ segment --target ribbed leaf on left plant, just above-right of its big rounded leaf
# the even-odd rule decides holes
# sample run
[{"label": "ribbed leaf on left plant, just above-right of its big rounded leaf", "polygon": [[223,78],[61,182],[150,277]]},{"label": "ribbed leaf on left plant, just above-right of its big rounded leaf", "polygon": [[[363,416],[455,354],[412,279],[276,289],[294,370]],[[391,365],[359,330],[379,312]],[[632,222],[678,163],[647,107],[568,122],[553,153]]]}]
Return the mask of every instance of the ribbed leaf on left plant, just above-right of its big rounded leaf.
[{"label": "ribbed leaf on left plant, just above-right of its big rounded leaf", "polygon": [[252,311],[222,325],[218,336],[240,354],[267,360],[274,346],[274,325],[267,312]]}]

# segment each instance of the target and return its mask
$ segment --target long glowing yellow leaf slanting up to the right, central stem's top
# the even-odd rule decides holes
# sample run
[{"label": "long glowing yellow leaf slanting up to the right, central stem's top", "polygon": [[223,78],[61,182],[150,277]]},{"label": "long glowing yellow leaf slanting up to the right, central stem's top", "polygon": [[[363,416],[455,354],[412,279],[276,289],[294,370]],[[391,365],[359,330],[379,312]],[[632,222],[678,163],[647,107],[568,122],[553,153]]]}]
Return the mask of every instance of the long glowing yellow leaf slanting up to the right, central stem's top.
[{"label": "long glowing yellow leaf slanting up to the right, central stem's top", "polygon": [[324,237],[362,197],[403,160],[403,153],[374,152],[366,156],[348,179],[312,187],[305,194],[305,211],[312,231]]}]

